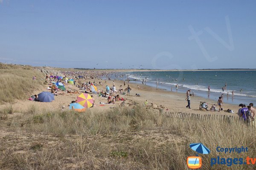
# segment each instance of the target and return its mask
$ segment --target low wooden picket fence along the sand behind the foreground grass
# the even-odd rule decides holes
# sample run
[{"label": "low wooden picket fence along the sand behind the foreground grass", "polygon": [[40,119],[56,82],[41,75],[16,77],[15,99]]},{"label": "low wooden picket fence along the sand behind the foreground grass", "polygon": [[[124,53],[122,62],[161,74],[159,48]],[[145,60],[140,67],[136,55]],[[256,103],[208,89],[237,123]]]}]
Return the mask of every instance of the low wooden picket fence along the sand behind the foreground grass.
[{"label": "low wooden picket fence along the sand behind the foreground grass", "polygon": [[170,116],[173,118],[180,118],[180,119],[189,119],[189,120],[237,120],[239,117],[234,113],[233,116],[231,115],[221,115],[221,114],[199,114],[199,113],[182,113],[182,112],[163,112],[163,110],[159,111],[160,114],[164,116]]}]

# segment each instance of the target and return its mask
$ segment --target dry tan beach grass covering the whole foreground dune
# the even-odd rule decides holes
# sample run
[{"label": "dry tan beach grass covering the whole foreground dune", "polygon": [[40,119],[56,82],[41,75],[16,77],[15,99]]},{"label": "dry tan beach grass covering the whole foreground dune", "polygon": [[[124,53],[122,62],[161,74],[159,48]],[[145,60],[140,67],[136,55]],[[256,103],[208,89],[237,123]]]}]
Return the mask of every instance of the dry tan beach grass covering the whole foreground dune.
[{"label": "dry tan beach grass covering the whole foreground dune", "polygon": [[[186,158],[196,155],[189,144],[197,142],[211,150],[199,154],[204,170],[253,170],[247,164],[211,167],[210,159],[256,157],[256,134],[243,122],[178,119],[138,105],[85,113],[32,105],[5,122],[12,133],[1,139],[0,169],[186,170]],[[218,146],[248,152],[218,153]]]}]

